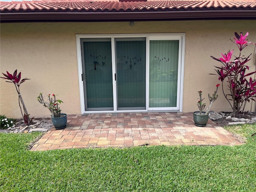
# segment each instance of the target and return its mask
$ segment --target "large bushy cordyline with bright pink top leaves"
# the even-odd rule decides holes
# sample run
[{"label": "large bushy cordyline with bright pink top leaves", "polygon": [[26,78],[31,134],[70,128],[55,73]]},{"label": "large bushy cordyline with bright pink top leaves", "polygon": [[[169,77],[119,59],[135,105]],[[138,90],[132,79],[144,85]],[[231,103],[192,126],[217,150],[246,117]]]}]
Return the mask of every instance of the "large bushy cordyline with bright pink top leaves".
[{"label": "large bushy cordyline with bright pink top leaves", "polygon": [[[256,73],[256,71],[248,73],[249,66],[246,63],[250,61],[251,54],[247,57],[242,55],[242,50],[246,46],[254,44],[246,39],[248,34],[247,32],[245,35],[242,33],[239,35],[235,32],[234,41],[231,41],[238,46],[240,53],[239,56],[235,56],[234,60],[231,60],[233,50],[228,51],[227,54],[222,54],[222,58],[211,56],[214,60],[222,63],[221,67],[215,66],[217,74],[214,75],[217,75],[222,82],[222,92],[232,107],[233,117],[238,117],[239,113],[243,113],[246,103],[250,100],[255,101],[254,97],[256,97],[256,80],[251,77],[247,78]],[[224,92],[224,80],[228,82],[228,93]]]}]

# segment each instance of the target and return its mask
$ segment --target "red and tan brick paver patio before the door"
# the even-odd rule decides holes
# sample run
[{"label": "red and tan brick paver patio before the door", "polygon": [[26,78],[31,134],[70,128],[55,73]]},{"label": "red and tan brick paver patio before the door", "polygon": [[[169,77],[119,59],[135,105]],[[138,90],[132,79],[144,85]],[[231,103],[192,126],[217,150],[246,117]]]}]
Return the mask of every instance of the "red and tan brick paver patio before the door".
[{"label": "red and tan brick paver patio before the door", "polygon": [[65,129],[52,128],[31,150],[140,145],[239,145],[234,135],[209,120],[194,125],[193,113],[69,115]]}]

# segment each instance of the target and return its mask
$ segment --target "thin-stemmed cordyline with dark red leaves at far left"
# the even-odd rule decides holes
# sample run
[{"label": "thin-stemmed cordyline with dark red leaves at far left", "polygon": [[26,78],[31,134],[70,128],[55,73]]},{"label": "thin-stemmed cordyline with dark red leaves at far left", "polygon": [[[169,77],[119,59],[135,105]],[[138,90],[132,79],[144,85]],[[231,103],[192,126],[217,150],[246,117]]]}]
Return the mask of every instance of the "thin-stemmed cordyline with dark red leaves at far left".
[{"label": "thin-stemmed cordyline with dark red leaves at far left", "polygon": [[[26,109],[26,106],[24,104],[22,96],[20,94],[20,84],[22,84],[26,80],[30,80],[30,79],[24,78],[24,79],[20,80],[21,72],[18,74],[17,70],[15,70],[13,74],[10,74],[8,71],[6,71],[6,74],[4,74],[4,73],[2,73],[2,74],[5,77],[0,77],[0,78],[7,79],[8,81],[6,81],[6,82],[13,83],[15,85],[16,91],[19,96],[19,106],[20,106],[20,103],[22,104],[22,107],[20,106],[20,112],[21,112],[22,118],[24,119],[24,122],[27,125],[30,125],[32,123],[32,119],[30,119],[30,117],[29,117],[30,114],[28,114],[28,111]],[[22,111],[22,108],[23,108],[23,111]],[[23,112],[24,112],[24,114],[23,114]]]}]

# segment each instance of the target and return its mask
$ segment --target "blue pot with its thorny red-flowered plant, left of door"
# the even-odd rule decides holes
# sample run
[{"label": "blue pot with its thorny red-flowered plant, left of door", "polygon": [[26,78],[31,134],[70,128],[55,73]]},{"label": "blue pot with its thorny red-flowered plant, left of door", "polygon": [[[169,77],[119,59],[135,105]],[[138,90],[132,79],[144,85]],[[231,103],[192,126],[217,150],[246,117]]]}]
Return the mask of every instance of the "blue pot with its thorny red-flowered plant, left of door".
[{"label": "blue pot with its thorny red-flowered plant, left of door", "polygon": [[48,108],[52,116],[52,124],[56,129],[63,129],[67,125],[67,114],[60,113],[59,104],[63,103],[62,100],[57,100],[55,94],[52,94],[53,97],[50,97],[51,94],[48,94],[48,102],[44,101],[42,93],[39,94],[37,100],[43,104],[44,107]]}]

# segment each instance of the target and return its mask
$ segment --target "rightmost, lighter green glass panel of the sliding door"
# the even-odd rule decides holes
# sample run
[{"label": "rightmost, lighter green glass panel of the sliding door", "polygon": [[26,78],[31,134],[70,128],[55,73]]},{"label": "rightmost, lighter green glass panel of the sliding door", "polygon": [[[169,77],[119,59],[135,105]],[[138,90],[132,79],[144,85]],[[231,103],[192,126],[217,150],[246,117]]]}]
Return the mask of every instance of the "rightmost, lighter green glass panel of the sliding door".
[{"label": "rightmost, lighter green glass panel of the sliding door", "polygon": [[149,107],[176,107],[178,40],[150,41]]}]

